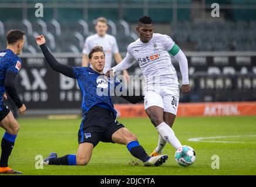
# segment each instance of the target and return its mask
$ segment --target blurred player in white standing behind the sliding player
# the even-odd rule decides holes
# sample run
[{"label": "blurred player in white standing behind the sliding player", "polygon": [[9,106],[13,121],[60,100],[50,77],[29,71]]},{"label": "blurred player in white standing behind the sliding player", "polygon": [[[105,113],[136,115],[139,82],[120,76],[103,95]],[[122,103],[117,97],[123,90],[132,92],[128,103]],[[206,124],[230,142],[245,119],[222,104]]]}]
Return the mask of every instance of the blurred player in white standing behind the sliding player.
[{"label": "blurred player in white standing behind the sliding player", "polygon": [[[122,61],[122,56],[119,53],[119,49],[117,46],[116,38],[110,34],[107,34],[107,19],[100,17],[96,20],[95,30],[96,34],[89,36],[85,40],[85,46],[83,48],[83,58],[82,58],[82,66],[88,67],[89,58],[88,54],[90,50],[95,46],[102,46],[104,49],[104,53],[106,54],[106,63],[103,72],[107,72],[112,67],[112,55],[114,55],[114,60],[116,63],[120,63]],[[124,78],[128,80],[129,74],[127,70],[123,71]]]}]

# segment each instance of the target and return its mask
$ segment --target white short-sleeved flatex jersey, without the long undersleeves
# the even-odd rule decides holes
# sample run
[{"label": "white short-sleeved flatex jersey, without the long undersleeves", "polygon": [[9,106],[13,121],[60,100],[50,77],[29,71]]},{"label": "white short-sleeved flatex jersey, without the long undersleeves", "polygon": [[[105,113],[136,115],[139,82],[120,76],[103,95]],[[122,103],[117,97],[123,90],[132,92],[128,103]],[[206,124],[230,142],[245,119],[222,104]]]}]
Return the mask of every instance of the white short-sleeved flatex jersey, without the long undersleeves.
[{"label": "white short-sleeved flatex jersey, without the long undersleeves", "polygon": [[143,72],[146,85],[160,84],[178,87],[176,70],[169,51],[174,41],[167,35],[154,33],[148,43],[137,39],[127,48],[127,58],[135,59]]}]

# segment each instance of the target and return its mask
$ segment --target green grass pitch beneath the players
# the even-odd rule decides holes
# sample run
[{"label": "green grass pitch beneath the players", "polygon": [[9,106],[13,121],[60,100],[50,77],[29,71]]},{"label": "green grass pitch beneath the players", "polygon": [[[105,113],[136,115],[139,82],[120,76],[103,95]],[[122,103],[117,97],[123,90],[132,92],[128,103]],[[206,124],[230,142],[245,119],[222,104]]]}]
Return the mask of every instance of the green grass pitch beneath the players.
[{"label": "green grass pitch beneath the players", "polygon": [[[137,135],[147,153],[150,154],[154,150],[158,134],[149,119],[120,119],[119,121]],[[59,156],[76,154],[80,119],[19,119],[18,122],[21,129],[9,158],[9,167],[22,171],[24,175],[256,174],[256,116],[177,117],[173,127],[177,137],[182,144],[189,145],[196,151],[196,162],[190,167],[181,167],[174,161],[175,151],[169,144],[164,148],[164,154],[169,155],[169,160],[164,165],[144,167],[142,162],[129,154],[126,146],[99,143],[86,166],[47,165],[43,169],[36,169],[36,155],[46,158],[50,151],[55,151]],[[4,130],[0,129],[0,136],[2,137],[3,134]],[[189,138],[217,136],[221,138],[206,139],[212,142],[188,141]],[[224,141],[224,143],[215,141]],[[220,158],[220,169],[211,168],[212,155],[218,155]],[[138,161],[139,165],[130,164],[133,161]]]}]

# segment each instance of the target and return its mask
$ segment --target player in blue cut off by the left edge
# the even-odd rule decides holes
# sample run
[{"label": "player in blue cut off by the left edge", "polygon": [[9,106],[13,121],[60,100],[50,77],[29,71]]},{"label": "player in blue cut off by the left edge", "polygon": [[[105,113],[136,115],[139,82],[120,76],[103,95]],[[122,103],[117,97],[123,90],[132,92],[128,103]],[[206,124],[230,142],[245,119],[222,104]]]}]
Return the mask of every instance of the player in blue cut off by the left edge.
[{"label": "player in blue cut off by the left edge", "polygon": [[22,51],[24,37],[25,33],[21,30],[9,30],[6,34],[6,50],[0,51],[0,127],[5,129],[1,143],[0,174],[22,174],[22,172],[8,167],[8,158],[14,147],[19,124],[15,120],[14,115],[12,115],[12,112],[4,105],[3,99],[7,99],[5,93],[7,92],[15,102],[19,114],[23,115],[25,113],[26,106],[22,104],[14,86],[15,77],[21,69],[21,58],[18,55]]}]

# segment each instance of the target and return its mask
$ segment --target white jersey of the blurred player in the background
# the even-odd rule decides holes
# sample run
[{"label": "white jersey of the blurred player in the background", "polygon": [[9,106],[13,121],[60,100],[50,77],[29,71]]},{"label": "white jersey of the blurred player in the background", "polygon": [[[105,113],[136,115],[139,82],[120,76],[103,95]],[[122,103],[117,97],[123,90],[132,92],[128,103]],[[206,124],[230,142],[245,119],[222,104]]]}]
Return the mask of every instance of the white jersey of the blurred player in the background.
[{"label": "white jersey of the blurred player in the background", "polygon": [[98,34],[93,34],[85,40],[85,46],[83,48],[83,54],[89,54],[90,50],[95,46],[102,46],[105,53],[105,67],[103,72],[107,72],[111,68],[112,54],[119,53],[117,47],[116,38],[110,34],[105,34],[104,37],[100,37]]}]

